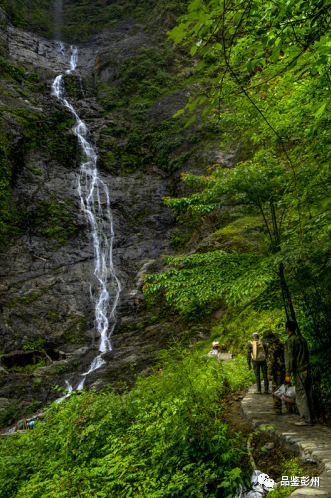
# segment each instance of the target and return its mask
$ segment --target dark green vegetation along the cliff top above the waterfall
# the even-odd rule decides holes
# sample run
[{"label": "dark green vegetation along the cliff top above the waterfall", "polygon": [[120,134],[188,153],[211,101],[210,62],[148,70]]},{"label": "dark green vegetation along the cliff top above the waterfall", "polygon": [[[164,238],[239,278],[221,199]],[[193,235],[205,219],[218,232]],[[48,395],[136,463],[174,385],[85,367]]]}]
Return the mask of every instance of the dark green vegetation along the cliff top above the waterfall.
[{"label": "dark green vegetation along the cliff top above the waterfall", "polygon": [[[67,42],[86,41],[101,30],[111,30],[132,18],[148,24],[146,31],[158,30],[167,16],[184,12],[185,2],[160,0],[0,0],[15,26],[30,29],[47,38]],[[158,22],[153,21],[157,18]],[[162,19],[163,18],[163,19]]]}]

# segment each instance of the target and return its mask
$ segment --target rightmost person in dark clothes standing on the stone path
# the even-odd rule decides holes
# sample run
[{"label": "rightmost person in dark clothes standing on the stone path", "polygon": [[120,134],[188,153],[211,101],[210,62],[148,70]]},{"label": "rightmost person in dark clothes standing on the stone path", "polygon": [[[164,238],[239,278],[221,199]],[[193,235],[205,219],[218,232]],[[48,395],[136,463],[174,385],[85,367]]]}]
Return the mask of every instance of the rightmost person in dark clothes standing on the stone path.
[{"label": "rightmost person in dark clothes standing on the stone path", "polygon": [[312,425],[313,393],[307,341],[295,333],[295,322],[286,322],[285,328],[289,336],[285,342],[285,381],[294,380],[295,402],[301,416],[295,425]]}]

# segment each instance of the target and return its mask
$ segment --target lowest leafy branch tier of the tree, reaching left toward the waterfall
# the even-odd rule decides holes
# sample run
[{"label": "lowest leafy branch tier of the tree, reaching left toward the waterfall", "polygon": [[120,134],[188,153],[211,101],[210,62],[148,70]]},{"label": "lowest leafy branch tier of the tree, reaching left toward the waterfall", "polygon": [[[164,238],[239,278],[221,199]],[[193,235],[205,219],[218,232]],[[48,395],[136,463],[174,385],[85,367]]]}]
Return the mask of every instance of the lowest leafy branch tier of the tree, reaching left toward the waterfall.
[{"label": "lowest leafy branch tier of the tree, reaching left toward the waterfall", "polygon": [[[217,306],[221,299],[235,303],[245,299],[247,287],[258,292],[266,283],[260,258],[255,255],[228,254],[214,251],[190,256],[167,256],[171,268],[158,275],[146,275],[144,292],[150,295],[164,290],[165,298],[183,315],[196,313],[207,304]],[[176,267],[180,266],[180,269]],[[244,282],[246,286],[244,287]],[[209,308],[209,312],[213,308]]]}]

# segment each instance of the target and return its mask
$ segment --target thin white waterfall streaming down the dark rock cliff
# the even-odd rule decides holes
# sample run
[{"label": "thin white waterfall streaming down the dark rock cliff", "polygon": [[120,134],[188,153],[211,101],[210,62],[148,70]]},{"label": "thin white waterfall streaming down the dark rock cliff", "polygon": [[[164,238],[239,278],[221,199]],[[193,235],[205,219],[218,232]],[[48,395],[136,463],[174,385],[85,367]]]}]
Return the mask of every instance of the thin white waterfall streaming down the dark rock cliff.
[{"label": "thin white waterfall streaming down the dark rock cliff", "polygon": [[[60,43],[60,50],[63,55],[64,45]],[[76,69],[78,62],[78,50],[70,47],[70,69],[66,71],[71,74]],[[107,185],[99,178],[97,170],[97,154],[88,140],[89,131],[85,123],[79,118],[77,112],[65,99],[65,88],[63,75],[55,78],[52,85],[52,94],[67,107],[75,117],[73,132],[78,138],[81,149],[81,164],[78,175],[78,193],[82,211],[91,228],[91,235],[94,246],[94,275],[98,286],[96,295],[93,298],[95,304],[95,324],[100,335],[99,355],[94,358],[87,372],[81,374],[82,379],[75,389],[83,389],[86,376],[94,370],[100,368],[105,360],[103,354],[111,351],[110,336],[116,324],[115,311],[121,291],[121,284],[116,277],[113,265],[113,241],[114,229],[113,218],[109,203],[109,192]],[[102,202],[101,202],[102,199]],[[110,304],[110,296],[107,283],[111,281],[116,289],[115,298]],[[92,296],[92,288],[91,296]],[[66,380],[68,391],[74,387],[69,380]]]}]

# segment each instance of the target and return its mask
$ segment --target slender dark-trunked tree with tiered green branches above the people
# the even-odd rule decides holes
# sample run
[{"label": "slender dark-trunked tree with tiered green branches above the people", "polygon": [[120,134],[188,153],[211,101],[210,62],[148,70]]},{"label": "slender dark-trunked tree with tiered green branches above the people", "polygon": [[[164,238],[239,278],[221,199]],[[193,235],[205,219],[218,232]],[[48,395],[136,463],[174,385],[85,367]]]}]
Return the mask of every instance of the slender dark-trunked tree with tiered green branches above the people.
[{"label": "slender dark-trunked tree with tiered green branches above the people", "polygon": [[[329,363],[326,351],[331,340],[326,227],[330,226],[331,213],[326,204],[321,207],[327,186],[322,191],[315,180],[316,195],[305,191],[310,202],[305,207],[299,204],[298,213],[297,189],[306,189],[309,171],[306,165],[298,167],[294,183],[291,169],[261,150],[254,161],[240,163],[232,170],[216,168],[209,177],[184,175],[189,185],[202,186],[203,190],[189,198],[166,198],[166,204],[176,213],[187,210],[204,214],[223,207],[240,208],[244,216],[260,220],[254,231],[260,233],[264,243],[250,252],[248,247],[244,253],[232,250],[168,257],[167,262],[175,267],[147,276],[144,291],[148,299],[163,291],[165,299],[185,316],[221,298],[231,306],[240,303],[241,309],[271,312],[283,308],[285,317],[296,319],[309,341],[315,386],[319,386],[316,392],[326,411],[330,375],[325,365]],[[222,231],[231,233],[231,225],[218,233]]]}]

